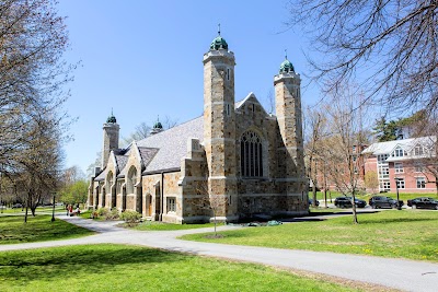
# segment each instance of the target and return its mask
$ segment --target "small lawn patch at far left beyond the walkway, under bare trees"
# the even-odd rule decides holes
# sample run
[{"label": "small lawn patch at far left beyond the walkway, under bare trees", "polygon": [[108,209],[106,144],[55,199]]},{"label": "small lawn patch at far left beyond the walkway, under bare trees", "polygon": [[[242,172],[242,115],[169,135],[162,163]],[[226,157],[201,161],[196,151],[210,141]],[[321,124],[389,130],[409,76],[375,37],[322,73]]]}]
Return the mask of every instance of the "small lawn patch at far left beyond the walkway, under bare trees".
[{"label": "small lawn patch at far left beyond the walkway, under bare trees", "polygon": [[31,215],[24,223],[21,215],[0,217],[0,244],[67,240],[93,234],[62,220],[51,222],[50,219],[50,215]]}]

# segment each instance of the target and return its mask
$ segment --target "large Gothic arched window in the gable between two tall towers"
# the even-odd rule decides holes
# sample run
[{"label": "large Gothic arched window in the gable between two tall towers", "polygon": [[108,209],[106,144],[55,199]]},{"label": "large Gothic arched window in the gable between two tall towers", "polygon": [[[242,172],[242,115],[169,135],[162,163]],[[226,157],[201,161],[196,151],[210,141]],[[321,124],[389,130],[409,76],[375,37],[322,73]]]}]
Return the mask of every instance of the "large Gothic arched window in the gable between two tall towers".
[{"label": "large Gothic arched window in the gable between two tall towers", "polygon": [[243,177],[263,176],[262,139],[246,131],[240,140],[240,170]]}]

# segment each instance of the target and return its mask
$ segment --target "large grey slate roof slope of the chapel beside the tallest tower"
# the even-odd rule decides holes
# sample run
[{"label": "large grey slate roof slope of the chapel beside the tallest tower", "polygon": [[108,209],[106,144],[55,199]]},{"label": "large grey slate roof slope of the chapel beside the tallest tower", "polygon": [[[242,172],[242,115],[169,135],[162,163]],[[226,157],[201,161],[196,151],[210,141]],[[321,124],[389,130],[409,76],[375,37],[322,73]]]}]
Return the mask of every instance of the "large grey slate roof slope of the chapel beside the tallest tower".
[{"label": "large grey slate roof slope of the chapel beside the tallest tower", "polygon": [[[143,161],[146,165],[143,173],[180,170],[181,159],[185,157],[187,153],[188,138],[197,138],[199,142],[203,142],[203,116],[138,141],[139,149],[149,149],[143,151],[145,157],[149,159],[149,162]],[[155,149],[155,153],[150,149]]]}]

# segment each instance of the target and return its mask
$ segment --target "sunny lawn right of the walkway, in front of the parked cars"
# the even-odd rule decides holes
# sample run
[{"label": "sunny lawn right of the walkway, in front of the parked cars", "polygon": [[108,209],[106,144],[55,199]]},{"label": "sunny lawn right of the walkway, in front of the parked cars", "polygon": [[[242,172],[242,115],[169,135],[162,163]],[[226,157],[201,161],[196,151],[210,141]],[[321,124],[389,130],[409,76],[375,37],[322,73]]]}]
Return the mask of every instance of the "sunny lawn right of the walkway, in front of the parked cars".
[{"label": "sunny lawn right of the walkway, in front of the parked cars", "polygon": [[206,234],[182,236],[184,240],[309,249],[342,254],[373,255],[393,258],[438,261],[438,212],[428,210],[389,210],[326,221],[309,221],[269,227],[223,231],[224,237]]}]

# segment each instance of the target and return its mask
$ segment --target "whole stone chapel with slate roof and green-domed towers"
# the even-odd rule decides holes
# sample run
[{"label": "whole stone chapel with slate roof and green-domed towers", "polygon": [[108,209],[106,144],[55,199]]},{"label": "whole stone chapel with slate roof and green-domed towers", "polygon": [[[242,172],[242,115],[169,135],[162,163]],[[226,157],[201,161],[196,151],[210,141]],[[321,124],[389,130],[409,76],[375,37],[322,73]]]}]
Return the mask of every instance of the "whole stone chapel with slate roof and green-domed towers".
[{"label": "whole stone chapel with slate roof and green-domed towers", "polygon": [[[103,125],[102,167],[89,208],[135,210],[170,223],[309,212],[300,75],[286,58],[274,77],[276,115],[253,93],[234,100],[234,54],[216,37],[204,55],[204,115],[118,148],[114,115]],[[201,106],[201,105],[199,105]]]}]

